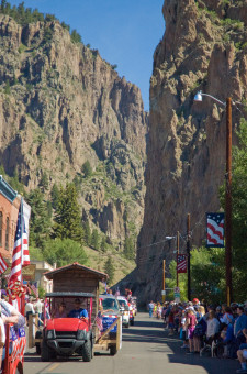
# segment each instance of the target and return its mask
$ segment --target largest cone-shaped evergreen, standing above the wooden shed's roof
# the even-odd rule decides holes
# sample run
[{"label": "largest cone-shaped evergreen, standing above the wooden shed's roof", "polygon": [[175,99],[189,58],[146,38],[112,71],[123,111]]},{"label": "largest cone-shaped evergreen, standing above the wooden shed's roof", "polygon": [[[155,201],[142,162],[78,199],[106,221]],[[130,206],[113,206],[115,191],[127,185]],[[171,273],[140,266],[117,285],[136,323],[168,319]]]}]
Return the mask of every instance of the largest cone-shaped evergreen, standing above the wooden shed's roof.
[{"label": "largest cone-shaped evergreen, standing above the wooden shed's roof", "polygon": [[67,184],[65,188],[60,187],[54,221],[54,238],[69,238],[77,242],[82,242],[83,229],[77,190],[74,184]]}]

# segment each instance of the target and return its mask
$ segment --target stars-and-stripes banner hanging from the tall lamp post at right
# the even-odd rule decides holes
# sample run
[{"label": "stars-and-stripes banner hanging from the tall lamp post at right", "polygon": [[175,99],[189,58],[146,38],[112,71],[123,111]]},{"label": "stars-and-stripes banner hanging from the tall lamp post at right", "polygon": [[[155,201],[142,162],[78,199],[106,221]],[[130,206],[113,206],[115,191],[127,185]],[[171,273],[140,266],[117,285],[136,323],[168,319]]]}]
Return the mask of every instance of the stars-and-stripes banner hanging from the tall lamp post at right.
[{"label": "stars-and-stripes banner hanging from the tall lamp post at right", "polygon": [[224,217],[224,213],[206,213],[206,246],[225,246]]}]

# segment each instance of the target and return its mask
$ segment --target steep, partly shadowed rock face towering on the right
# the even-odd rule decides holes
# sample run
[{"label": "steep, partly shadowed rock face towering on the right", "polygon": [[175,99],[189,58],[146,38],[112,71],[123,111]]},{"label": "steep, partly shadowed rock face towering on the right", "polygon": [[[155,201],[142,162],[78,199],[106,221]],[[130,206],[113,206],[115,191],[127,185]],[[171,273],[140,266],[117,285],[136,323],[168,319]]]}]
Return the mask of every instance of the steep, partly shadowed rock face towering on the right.
[{"label": "steep, partly shadowed rock face towering on the right", "polygon": [[[226,114],[212,99],[194,102],[193,97],[202,90],[222,101],[246,100],[246,10],[247,1],[165,1],[166,32],[150,80],[147,193],[137,253],[144,298],[160,297],[162,258],[169,264],[176,256],[176,242],[166,235],[184,235],[189,212],[192,244],[202,245],[205,212],[220,208]],[[239,117],[234,107],[234,129]],[[180,243],[186,251],[186,241]]]}]

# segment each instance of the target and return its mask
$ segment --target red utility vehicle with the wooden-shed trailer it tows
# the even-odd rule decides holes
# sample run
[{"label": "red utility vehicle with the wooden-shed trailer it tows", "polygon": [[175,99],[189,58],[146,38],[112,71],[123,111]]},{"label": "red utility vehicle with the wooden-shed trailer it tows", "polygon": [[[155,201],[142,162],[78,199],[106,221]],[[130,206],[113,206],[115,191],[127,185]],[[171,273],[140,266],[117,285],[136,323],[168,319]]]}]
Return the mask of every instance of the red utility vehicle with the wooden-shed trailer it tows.
[{"label": "red utility vehicle with the wooden-shed trailer it tows", "polygon": [[[32,340],[32,346],[36,346],[36,352],[41,354],[42,360],[49,361],[58,355],[81,354],[83,361],[90,361],[93,352],[102,349],[110,350],[111,354],[115,354],[121,348],[122,341],[122,323],[119,312],[114,316],[116,318],[110,319],[111,323],[106,329],[100,331],[99,323],[97,323],[99,315],[99,318],[104,321],[104,316],[99,312],[99,283],[105,282],[108,275],[78,263],[56,268],[44,273],[44,275],[53,280],[53,293],[46,295],[44,310],[44,316],[46,317],[48,311],[50,318],[45,318],[43,329],[38,329],[36,323],[30,323],[31,329],[36,330],[36,332],[34,330],[30,332],[30,337],[35,337]],[[88,310],[89,318],[83,321],[85,327],[82,327],[82,322],[75,321],[72,333],[70,328],[64,328],[64,326],[72,323],[72,318],[54,318],[54,310],[64,301],[68,314],[77,297],[85,302],[83,308]],[[33,317],[30,316],[30,318]],[[114,328],[117,333],[112,334]],[[66,330],[74,337],[68,337]],[[82,337],[82,332],[80,333],[79,330],[86,330],[87,334]],[[81,342],[78,342],[78,337],[81,337]]]}]

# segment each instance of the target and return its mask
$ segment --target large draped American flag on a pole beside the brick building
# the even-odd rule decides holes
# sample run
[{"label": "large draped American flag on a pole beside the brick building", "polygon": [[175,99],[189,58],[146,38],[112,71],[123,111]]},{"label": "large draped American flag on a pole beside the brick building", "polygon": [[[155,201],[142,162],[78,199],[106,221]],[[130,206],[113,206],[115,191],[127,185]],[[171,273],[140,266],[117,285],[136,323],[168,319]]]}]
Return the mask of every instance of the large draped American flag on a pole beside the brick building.
[{"label": "large draped American flag on a pole beside the brick building", "polygon": [[25,222],[22,215],[22,204],[23,201],[21,201],[18,215],[18,226],[14,238],[14,249],[9,282],[21,280],[22,266],[30,265],[29,242]]}]

